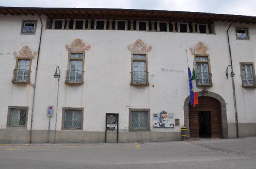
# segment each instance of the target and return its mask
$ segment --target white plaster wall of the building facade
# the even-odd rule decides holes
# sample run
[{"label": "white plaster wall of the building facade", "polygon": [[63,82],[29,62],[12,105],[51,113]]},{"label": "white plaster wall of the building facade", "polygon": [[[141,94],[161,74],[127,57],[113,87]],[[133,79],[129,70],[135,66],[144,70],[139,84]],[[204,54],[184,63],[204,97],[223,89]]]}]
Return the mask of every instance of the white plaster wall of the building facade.
[{"label": "white plaster wall of the building facade", "polygon": [[[6,128],[8,106],[29,106],[28,129],[32,108],[33,87],[11,83],[15,68],[14,51],[24,45],[38,50],[41,24],[38,19],[36,35],[21,35],[23,19],[38,19],[37,16],[0,15],[0,72],[4,72],[0,81],[0,128]],[[44,28],[45,28],[45,18]],[[53,78],[55,67],[61,69],[57,130],[61,130],[62,107],[84,107],[83,130],[105,130],[105,114],[119,113],[120,130],[128,130],[129,108],[148,108],[153,113],[162,110],[174,113],[184,125],[183,105],[189,95],[188,72],[185,49],[192,68],[193,57],[189,48],[199,41],[208,45],[207,54],[211,60],[213,87],[208,91],[221,95],[226,101],[228,123],[234,123],[234,106],[231,78],[226,79],[226,67],[230,64],[226,29],[228,23],[216,23],[216,35],[115,31],[115,30],[50,30],[44,29],[38,66],[37,86],[33,129],[47,130],[47,105],[54,105],[54,116],[50,129],[55,129],[56,100],[58,80]],[[239,62],[256,62],[254,46],[256,26],[247,24],[250,40],[236,40],[234,27],[230,29],[231,50],[235,72],[235,86],[238,103],[239,123],[256,123],[256,89],[241,87]],[[85,54],[84,84],[66,85],[65,71],[68,69],[68,51],[65,45],[80,38],[91,49]],[[131,53],[127,46],[137,39],[152,46],[148,53],[149,83],[148,87],[130,86]],[[31,84],[34,83],[37,57],[32,61]],[[175,69],[180,72],[161,71],[161,68]],[[230,74],[229,69],[229,74]],[[154,87],[153,87],[154,85]],[[198,88],[201,91],[203,88]],[[152,126],[152,116],[151,126]],[[173,129],[155,129],[151,131],[180,131]]]}]

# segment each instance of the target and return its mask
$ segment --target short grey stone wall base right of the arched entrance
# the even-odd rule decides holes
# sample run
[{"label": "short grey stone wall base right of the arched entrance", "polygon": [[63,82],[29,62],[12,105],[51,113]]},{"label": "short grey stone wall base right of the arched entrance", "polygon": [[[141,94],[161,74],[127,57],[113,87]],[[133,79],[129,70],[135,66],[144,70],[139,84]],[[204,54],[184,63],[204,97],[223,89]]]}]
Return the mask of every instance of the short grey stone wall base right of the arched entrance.
[{"label": "short grey stone wall base right of the arched entrance", "polygon": [[[256,136],[256,123],[238,123],[239,137]],[[236,138],[236,124],[228,123],[228,138]]]}]

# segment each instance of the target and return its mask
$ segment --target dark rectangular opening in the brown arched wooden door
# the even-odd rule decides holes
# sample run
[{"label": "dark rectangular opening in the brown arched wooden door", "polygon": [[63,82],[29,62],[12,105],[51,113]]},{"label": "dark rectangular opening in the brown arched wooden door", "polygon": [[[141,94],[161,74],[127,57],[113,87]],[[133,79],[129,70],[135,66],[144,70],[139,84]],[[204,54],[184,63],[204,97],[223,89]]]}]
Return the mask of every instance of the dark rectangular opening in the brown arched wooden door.
[{"label": "dark rectangular opening in the brown arched wooden door", "polygon": [[198,111],[199,137],[211,138],[211,112]]}]

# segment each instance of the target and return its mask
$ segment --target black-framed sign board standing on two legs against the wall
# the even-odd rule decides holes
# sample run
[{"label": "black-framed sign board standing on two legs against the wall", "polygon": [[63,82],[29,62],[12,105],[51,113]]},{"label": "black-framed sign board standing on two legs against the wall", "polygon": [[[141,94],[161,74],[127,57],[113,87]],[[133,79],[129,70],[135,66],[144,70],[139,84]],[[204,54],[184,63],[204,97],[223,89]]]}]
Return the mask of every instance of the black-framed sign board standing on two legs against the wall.
[{"label": "black-framed sign board standing on two legs against the wall", "polygon": [[118,143],[118,113],[106,113],[105,143],[107,143],[107,130],[117,130],[116,143]]}]

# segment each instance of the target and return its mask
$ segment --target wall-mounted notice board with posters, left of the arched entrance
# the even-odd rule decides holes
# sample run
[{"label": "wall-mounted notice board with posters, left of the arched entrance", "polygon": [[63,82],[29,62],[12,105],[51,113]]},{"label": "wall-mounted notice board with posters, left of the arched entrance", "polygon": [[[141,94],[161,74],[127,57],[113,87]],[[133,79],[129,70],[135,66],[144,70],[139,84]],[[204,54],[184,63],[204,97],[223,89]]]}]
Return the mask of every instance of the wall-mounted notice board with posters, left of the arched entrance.
[{"label": "wall-mounted notice board with posters, left of the arched entrance", "polygon": [[174,114],[161,111],[153,114],[153,127],[170,128],[174,127]]}]

